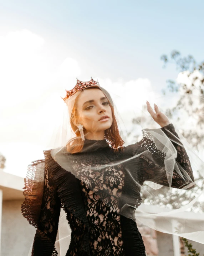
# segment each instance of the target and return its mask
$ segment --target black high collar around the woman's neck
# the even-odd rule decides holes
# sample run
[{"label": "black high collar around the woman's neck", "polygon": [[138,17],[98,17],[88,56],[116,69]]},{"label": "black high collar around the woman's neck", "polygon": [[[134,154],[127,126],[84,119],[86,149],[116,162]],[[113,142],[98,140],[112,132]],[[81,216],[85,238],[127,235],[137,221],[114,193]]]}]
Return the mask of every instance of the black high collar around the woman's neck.
[{"label": "black high collar around the woman's neck", "polygon": [[89,140],[85,138],[83,149],[81,152],[95,151],[97,149],[107,148],[109,144],[106,139],[103,140]]}]

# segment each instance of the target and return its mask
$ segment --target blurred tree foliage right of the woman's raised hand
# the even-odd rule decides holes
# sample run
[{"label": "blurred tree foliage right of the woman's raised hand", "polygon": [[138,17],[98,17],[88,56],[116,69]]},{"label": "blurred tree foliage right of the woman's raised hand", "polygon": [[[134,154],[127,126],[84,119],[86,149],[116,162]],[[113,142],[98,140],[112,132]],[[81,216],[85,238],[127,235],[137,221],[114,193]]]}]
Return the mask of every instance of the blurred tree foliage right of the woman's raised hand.
[{"label": "blurred tree foliage right of the woman's raised hand", "polygon": [[[163,95],[167,95],[167,92],[171,95],[180,92],[178,102],[165,114],[171,118],[177,116],[177,111],[182,109],[183,116],[191,117],[194,122],[192,127],[194,125],[196,129],[188,127],[182,135],[195,150],[199,151],[204,148],[204,61],[197,63],[192,55],[182,57],[177,50],[173,50],[170,56],[162,55],[160,59],[164,62],[163,67],[166,67],[167,63],[175,64],[180,77],[183,76],[182,81],[178,80],[179,83],[168,79],[167,88],[162,90]],[[179,121],[182,122],[180,115],[177,116],[178,124]]]}]

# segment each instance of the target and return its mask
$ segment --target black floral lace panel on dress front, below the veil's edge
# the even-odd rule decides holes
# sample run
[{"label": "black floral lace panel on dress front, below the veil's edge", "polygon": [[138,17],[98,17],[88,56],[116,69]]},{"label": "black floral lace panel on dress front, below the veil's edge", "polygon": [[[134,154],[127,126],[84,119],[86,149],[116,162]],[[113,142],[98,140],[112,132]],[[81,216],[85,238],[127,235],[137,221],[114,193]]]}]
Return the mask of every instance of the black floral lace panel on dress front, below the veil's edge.
[{"label": "black floral lace panel on dress front, below the veil's edge", "polygon": [[124,255],[120,215],[117,208],[114,208],[114,205],[108,207],[87,188],[85,183],[81,182],[81,185],[85,193],[85,209],[91,227],[92,255]]}]

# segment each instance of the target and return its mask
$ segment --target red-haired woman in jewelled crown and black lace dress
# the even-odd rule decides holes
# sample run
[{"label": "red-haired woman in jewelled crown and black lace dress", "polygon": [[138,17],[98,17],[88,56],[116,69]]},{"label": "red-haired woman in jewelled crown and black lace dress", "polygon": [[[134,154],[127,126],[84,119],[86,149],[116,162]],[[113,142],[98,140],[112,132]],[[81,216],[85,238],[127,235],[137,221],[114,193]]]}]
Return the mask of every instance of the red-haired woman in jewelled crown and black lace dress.
[{"label": "red-haired woman in jewelled crown and black lace dress", "polygon": [[[153,135],[146,131],[141,141],[125,147],[112,99],[98,82],[77,79],[63,100],[76,136],[60,149],[45,150],[45,160],[33,162],[25,179],[22,213],[37,228],[32,256],[58,255],[55,242],[61,207],[72,230],[66,256],[145,256],[134,215],[144,181],[180,189],[195,186],[188,155],[177,145],[173,124],[147,102],[149,113],[161,126],[154,129],[157,140],[151,140]],[[172,174],[171,164],[165,165],[167,143],[162,141],[169,137],[173,137],[178,163],[174,161]],[[156,147],[161,142],[162,150]]]}]

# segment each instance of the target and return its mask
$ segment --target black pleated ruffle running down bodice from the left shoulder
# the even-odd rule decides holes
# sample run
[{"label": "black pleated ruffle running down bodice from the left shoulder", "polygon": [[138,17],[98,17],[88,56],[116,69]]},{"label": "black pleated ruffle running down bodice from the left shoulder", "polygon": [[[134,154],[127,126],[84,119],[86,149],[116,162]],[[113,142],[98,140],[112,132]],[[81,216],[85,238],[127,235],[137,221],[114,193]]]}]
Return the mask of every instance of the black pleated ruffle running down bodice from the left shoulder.
[{"label": "black pleated ruffle running down bodice from the left shoulder", "polygon": [[[80,230],[78,232],[78,250],[86,252],[90,256],[90,248],[88,243],[88,231],[90,229],[86,212],[83,205],[82,194],[80,190],[79,180],[66,170],[62,169],[56,161],[53,160],[51,150],[44,151],[45,161],[52,173],[53,181],[56,183],[58,198],[62,202],[62,207],[67,213],[67,220],[70,214],[75,218],[75,227]],[[71,223],[70,227],[71,227]]]}]

